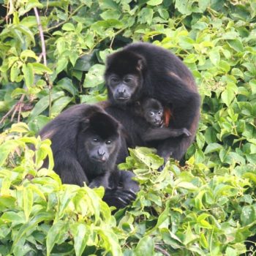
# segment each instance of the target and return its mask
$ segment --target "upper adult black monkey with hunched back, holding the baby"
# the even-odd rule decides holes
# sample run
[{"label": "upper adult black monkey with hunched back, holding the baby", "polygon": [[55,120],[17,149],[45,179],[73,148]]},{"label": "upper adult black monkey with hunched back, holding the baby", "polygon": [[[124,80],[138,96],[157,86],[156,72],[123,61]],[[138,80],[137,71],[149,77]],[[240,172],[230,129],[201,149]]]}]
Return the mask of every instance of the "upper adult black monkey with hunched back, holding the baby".
[{"label": "upper adult black monkey with hunched back, holding the baby", "polygon": [[105,81],[108,98],[117,108],[125,109],[142,97],[154,97],[170,109],[169,127],[185,127],[191,136],[166,139],[157,151],[165,160],[184,156],[195,138],[200,95],[191,72],[180,59],[156,45],[133,43],[108,56]]}]

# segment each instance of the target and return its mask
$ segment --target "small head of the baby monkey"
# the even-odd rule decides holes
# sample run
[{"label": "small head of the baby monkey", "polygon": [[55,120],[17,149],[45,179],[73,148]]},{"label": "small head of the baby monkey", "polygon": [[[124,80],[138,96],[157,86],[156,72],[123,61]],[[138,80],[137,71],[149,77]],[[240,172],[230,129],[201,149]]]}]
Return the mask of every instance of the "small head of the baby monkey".
[{"label": "small head of the baby monkey", "polygon": [[140,102],[143,118],[151,124],[152,127],[161,127],[163,124],[164,108],[157,99],[146,98]]}]

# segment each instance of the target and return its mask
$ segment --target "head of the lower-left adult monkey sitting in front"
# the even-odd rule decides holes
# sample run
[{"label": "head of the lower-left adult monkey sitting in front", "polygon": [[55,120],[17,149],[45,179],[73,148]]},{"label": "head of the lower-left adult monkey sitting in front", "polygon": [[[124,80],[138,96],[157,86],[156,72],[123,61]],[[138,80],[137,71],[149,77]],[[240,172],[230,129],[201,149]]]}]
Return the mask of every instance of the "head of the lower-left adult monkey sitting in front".
[{"label": "head of the lower-left adult monkey sitting in front", "polygon": [[[102,166],[112,166],[121,145],[120,124],[108,113],[93,113],[83,120],[83,145],[86,158],[100,171]],[[81,137],[80,137],[81,138]]]}]

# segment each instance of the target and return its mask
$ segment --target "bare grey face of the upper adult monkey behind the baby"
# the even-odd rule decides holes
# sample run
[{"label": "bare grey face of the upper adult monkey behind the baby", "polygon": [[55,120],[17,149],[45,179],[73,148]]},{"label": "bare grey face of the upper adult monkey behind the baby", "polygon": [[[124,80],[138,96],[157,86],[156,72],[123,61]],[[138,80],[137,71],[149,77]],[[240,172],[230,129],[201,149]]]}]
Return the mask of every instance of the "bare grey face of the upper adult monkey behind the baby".
[{"label": "bare grey face of the upper adult monkey behind the baby", "polygon": [[141,78],[139,75],[127,74],[124,76],[110,74],[107,78],[108,93],[118,104],[127,104],[133,101],[133,95],[141,87]]}]

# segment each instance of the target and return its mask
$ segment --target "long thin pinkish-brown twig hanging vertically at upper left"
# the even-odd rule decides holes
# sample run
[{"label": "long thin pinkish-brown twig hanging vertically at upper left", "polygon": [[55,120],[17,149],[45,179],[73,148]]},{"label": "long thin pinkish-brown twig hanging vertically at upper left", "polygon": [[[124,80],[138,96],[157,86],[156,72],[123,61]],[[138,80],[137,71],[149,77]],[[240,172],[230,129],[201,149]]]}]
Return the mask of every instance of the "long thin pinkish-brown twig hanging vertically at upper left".
[{"label": "long thin pinkish-brown twig hanging vertically at upper left", "polygon": [[[34,14],[36,15],[36,18],[37,18],[39,36],[40,36],[41,44],[42,44],[42,53],[40,54],[40,56],[42,55],[44,65],[45,65],[45,67],[47,67],[46,50],[45,50],[45,38],[44,38],[44,33],[42,31],[42,24],[41,24],[41,20],[40,20],[38,11],[37,11],[37,7],[34,7]],[[50,117],[50,113],[51,113],[51,89],[52,89],[53,86],[50,83],[50,77],[49,77],[47,72],[45,72],[45,79],[48,83],[48,89],[49,89],[49,117]]]}]

